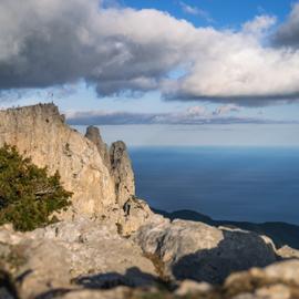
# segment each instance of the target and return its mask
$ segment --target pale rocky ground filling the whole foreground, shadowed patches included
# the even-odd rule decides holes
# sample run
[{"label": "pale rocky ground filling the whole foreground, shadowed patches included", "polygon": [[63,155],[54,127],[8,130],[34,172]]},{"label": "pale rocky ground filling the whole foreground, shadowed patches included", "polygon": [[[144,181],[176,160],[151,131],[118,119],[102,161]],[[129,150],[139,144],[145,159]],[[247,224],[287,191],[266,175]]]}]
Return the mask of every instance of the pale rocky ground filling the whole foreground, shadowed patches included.
[{"label": "pale rocky ground filling the whole foreground, shadowed patches included", "polygon": [[154,214],[125,237],[111,219],[2,226],[0,257],[1,299],[299,298],[299,260],[269,238]]}]

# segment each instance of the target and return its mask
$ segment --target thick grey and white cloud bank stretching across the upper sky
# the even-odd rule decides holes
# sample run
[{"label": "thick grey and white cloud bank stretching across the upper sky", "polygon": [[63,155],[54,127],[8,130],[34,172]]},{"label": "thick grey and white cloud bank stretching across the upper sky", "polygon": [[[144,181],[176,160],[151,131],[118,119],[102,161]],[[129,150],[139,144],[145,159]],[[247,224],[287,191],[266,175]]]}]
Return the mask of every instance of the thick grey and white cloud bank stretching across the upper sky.
[{"label": "thick grey and white cloud bank stretching across the upper sky", "polygon": [[[99,96],[161,91],[167,100],[266,105],[299,99],[299,3],[239,31],[195,28],[157,10],[97,0],[2,0],[0,90],[85,80]],[[184,74],[173,79],[172,71]]]}]

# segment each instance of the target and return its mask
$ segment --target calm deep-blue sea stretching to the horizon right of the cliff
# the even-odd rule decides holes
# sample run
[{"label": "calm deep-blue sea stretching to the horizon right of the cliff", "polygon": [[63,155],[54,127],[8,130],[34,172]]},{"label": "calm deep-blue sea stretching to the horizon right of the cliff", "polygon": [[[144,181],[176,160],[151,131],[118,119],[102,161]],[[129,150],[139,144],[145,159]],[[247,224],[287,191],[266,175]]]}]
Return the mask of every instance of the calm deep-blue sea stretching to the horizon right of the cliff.
[{"label": "calm deep-blue sea stretching to the horizon right of the cliff", "polygon": [[131,147],[137,195],[215,219],[299,224],[299,148]]}]

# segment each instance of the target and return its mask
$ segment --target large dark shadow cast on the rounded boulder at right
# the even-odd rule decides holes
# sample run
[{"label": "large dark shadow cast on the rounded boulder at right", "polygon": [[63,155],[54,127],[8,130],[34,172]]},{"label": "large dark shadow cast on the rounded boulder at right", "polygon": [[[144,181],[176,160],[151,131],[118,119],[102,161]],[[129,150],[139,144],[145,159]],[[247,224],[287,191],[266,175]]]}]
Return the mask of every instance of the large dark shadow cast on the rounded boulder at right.
[{"label": "large dark shadow cast on the rounded boulder at right", "polygon": [[[231,272],[266,267],[277,260],[272,246],[260,236],[236,230],[223,233],[224,239],[217,247],[186,255],[175,262],[172,267],[174,277],[221,283]],[[264,256],[260,252],[265,252]]]}]

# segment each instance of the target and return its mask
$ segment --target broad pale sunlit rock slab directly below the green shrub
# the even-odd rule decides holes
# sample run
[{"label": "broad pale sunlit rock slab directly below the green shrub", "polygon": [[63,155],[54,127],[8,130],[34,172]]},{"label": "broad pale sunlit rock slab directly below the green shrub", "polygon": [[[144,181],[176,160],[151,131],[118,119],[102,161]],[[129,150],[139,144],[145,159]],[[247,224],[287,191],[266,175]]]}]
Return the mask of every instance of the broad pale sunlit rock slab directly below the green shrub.
[{"label": "broad pale sunlit rock slab directly below the green shrub", "polygon": [[85,218],[32,233],[0,230],[0,256],[19,279],[22,298],[56,290],[147,286],[157,278],[151,260],[116,226]]}]

